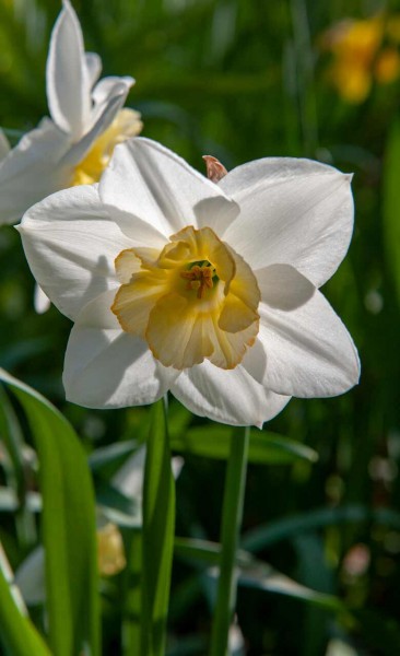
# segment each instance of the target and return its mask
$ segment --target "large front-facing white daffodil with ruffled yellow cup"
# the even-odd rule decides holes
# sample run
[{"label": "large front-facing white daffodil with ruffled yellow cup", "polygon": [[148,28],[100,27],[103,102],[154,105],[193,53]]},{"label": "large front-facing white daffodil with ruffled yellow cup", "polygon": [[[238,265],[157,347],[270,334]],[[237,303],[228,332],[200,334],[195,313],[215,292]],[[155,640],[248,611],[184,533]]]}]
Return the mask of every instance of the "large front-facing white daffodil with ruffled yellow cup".
[{"label": "large front-facing white daffodil with ruffled yellow cup", "polygon": [[261,426],[291,396],[351,388],[356,349],[318,291],[349,247],[350,180],[264,159],[215,184],[137,138],[98,186],[32,208],[20,226],[27,260],[74,321],[67,398],[116,408],[170,390],[199,415]]}]

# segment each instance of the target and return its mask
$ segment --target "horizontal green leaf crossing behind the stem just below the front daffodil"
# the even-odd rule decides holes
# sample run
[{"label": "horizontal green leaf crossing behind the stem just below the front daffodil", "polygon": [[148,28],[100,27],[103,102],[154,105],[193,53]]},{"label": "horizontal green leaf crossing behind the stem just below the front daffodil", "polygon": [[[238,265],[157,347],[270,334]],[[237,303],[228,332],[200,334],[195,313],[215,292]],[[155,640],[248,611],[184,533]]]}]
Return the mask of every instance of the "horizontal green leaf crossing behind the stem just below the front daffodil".
[{"label": "horizontal green leaf crossing behind the stem just below the front daffodil", "polygon": [[[225,460],[230,453],[232,429],[220,424],[195,426],[170,440],[173,450]],[[269,433],[250,431],[248,461],[258,465],[286,465],[298,458],[315,462],[318,455],[304,444]]]}]

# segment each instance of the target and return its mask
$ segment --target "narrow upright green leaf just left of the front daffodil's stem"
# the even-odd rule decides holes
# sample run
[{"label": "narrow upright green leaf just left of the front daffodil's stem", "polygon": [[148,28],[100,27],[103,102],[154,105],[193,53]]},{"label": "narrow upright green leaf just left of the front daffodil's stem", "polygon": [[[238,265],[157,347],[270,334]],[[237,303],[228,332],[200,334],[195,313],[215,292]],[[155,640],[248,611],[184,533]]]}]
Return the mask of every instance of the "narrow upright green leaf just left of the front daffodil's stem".
[{"label": "narrow upright green leaf just left of the front daffodil's stem", "polygon": [[143,483],[142,656],[164,656],[175,527],[175,482],[163,401],[152,408]]}]

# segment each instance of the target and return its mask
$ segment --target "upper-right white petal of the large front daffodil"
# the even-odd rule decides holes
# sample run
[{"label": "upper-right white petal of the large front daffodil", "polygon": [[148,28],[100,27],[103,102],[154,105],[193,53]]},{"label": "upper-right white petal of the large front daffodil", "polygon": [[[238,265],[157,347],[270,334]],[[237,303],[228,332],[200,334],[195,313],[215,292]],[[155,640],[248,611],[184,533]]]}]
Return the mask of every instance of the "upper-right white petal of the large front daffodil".
[{"label": "upper-right white petal of the large front daffodil", "polygon": [[320,286],[349,248],[350,180],[308,160],[266,159],[239,166],[220,181],[242,209],[223,238],[254,269],[293,265]]}]

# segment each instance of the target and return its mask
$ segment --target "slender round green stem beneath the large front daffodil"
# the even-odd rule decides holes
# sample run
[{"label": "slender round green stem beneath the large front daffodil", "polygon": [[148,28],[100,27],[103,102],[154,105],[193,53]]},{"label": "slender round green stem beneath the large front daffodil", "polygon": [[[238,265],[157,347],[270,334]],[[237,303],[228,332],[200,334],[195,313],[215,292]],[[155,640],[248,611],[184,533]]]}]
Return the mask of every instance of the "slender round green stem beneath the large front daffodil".
[{"label": "slender round green stem beneath the large front daffodil", "polygon": [[226,655],[230,626],[236,606],[235,560],[245,497],[249,435],[250,429],[245,427],[235,432],[231,437],[221,527],[220,577],[210,656]]}]

